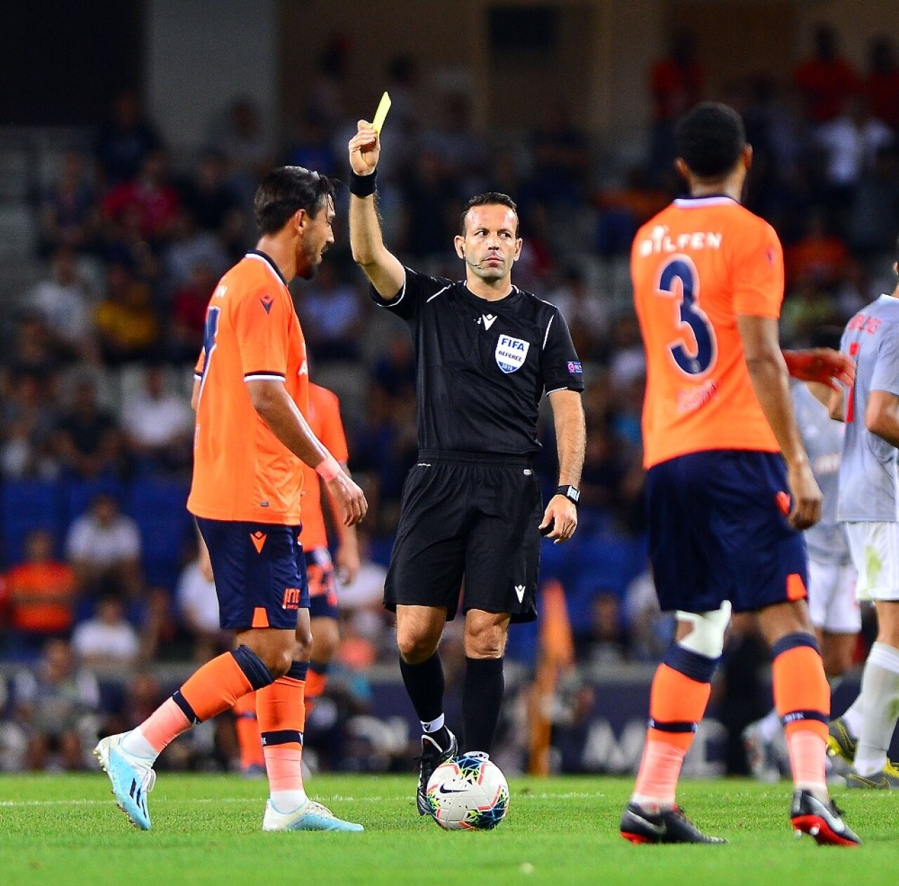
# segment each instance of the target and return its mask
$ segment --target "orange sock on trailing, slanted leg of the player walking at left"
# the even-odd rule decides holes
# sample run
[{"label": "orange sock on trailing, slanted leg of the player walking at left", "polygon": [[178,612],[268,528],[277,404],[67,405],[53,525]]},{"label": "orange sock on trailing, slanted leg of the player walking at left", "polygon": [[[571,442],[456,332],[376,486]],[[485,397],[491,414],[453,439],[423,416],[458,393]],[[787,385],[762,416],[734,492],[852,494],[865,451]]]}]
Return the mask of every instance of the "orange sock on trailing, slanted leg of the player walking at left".
[{"label": "orange sock on trailing, slanted leg of the player walking at left", "polygon": [[267,683],[271,683],[271,674],[253,652],[245,646],[226,652],[188,677],[172,698],[122,740],[122,746],[136,756],[156,759],[195,723],[227,711],[242,695]]}]

